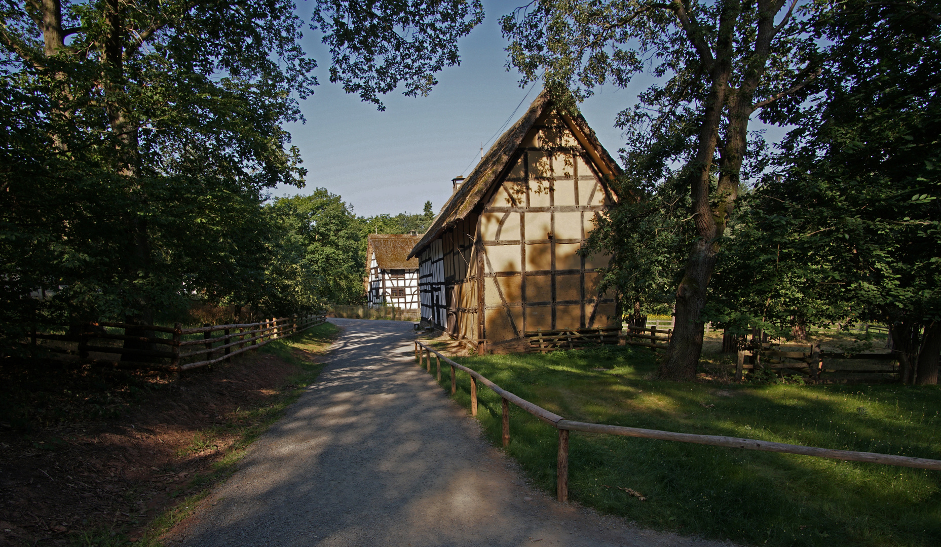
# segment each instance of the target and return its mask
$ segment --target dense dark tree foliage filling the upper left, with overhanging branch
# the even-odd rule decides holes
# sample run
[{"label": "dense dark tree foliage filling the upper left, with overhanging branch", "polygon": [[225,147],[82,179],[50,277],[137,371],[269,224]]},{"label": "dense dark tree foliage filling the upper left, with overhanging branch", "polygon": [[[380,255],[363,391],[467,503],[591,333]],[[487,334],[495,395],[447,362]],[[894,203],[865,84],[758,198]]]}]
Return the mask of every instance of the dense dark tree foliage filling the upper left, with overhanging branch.
[{"label": "dense dark tree foliage filling the upper left, with overhanging branch", "polygon": [[[242,268],[239,257],[264,256],[264,191],[305,176],[283,129],[302,120],[298,100],[317,83],[296,9],[0,7],[5,332],[43,317],[150,322],[188,295],[259,281],[258,264]],[[427,93],[482,17],[477,0],[320,0],[312,23],[330,47],[331,79],[381,107],[396,87]]]}]

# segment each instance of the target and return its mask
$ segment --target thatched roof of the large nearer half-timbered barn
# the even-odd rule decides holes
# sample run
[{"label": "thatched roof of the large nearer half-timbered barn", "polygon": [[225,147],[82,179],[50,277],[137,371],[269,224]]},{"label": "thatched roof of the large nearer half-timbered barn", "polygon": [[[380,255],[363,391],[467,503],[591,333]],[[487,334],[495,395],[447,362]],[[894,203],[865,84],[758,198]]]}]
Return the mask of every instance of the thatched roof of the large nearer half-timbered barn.
[{"label": "thatched roof of the large nearer half-timbered barn", "polygon": [[[500,138],[487,150],[484,159],[474,167],[468,178],[460,185],[455,195],[452,195],[451,199],[444,204],[421,241],[411,249],[408,258],[417,257],[426,246],[439,237],[441,232],[454,226],[457,221],[466,218],[470,211],[473,211],[490,187],[501,180],[502,174],[510,168],[510,161],[516,154],[517,148],[522,144],[526,134],[533,129],[536,120],[549,112],[552,107],[553,103],[548,91],[543,91],[535,98],[526,113],[513,124],[513,127],[506,130],[506,133],[500,135]],[[593,158],[597,158],[596,163],[602,164],[598,165],[602,172],[613,173],[615,176],[622,173],[621,167],[614,162],[608,150],[601,146],[595,132],[588,127],[588,122],[581,114],[574,117],[563,116],[563,118],[572,133],[576,133],[577,138],[583,137],[586,141],[582,142],[582,146],[587,145],[585,148],[591,148],[589,153]],[[582,141],[582,138],[579,140]]]}]

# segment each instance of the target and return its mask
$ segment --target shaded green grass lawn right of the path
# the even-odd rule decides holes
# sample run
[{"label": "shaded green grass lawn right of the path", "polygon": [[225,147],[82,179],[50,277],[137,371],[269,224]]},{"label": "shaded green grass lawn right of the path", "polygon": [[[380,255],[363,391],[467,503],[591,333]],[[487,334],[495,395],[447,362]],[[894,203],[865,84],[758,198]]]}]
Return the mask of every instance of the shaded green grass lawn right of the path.
[{"label": "shaded green grass lawn right of the path", "polygon": [[[662,382],[655,359],[608,346],[457,360],[573,420],[941,459],[938,386]],[[478,394],[499,445],[500,398]],[[455,398],[470,406],[464,373]],[[554,493],[556,430],[510,408],[507,452]],[[641,525],[755,545],[941,545],[941,472],[575,431],[569,443],[569,498]]]}]

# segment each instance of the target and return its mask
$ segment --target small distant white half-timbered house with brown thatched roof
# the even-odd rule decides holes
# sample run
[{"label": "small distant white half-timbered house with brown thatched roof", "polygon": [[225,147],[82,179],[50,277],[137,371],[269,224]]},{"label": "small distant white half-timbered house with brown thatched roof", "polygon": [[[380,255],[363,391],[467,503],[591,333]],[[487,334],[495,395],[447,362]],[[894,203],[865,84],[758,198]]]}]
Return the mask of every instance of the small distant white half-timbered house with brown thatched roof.
[{"label": "small distant white half-timbered house with brown thatched roof", "polygon": [[417,258],[408,258],[420,240],[417,235],[370,234],[366,238],[366,302],[416,309],[418,297]]}]

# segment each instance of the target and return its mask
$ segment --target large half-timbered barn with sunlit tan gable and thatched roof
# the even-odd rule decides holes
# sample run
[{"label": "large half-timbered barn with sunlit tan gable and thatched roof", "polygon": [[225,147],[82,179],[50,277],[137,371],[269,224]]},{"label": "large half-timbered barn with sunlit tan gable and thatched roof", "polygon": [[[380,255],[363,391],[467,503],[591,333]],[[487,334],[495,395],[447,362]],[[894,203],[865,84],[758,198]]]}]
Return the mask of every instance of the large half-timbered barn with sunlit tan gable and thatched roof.
[{"label": "large half-timbered barn with sunlit tan gable and thatched roof", "polygon": [[[411,250],[422,318],[478,352],[616,342],[608,257],[580,250],[620,167],[581,116],[543,92],[494,143]],[[567,344],[566,344],[567,342]]]}]

